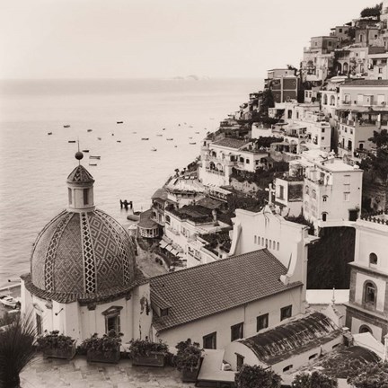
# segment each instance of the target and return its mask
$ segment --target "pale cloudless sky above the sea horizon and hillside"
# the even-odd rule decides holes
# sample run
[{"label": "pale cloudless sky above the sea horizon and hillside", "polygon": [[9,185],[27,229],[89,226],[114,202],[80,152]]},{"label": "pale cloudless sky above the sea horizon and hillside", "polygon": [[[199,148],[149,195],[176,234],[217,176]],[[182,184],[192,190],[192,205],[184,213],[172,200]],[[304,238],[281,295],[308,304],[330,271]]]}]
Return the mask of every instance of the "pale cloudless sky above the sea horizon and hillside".
[{"label": "pale cloudless sky above the sea horizon and hillside", "polygon": [[367,0],[0,0],[0,79],[265,77]]}]

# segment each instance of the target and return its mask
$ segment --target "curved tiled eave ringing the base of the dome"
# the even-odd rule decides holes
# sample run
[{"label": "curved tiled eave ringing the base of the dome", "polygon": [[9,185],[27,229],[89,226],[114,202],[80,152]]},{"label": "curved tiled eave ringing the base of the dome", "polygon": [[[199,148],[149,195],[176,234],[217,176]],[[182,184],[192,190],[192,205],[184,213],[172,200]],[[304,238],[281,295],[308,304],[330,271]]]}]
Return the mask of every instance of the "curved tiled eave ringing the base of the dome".
[{"label": "curved tiled eave ringing the base of the dome", "polygon": [[55,293],[49,292],[46,290],[42,290],[39,287],[36,287],[31,281],[31,274],[24,274],[21,276],[22,280],[24,280],[24,285],[28,291],[31,292],[32,295],[38,296],[41,299],[45,299],[47,301],[54,300],[58,303],[68,304],[78,301],[81,305],[86,304],[102,304],[110,301],[117,300],[125,295],[129,295],[131,290],[137,286],[141,286],[147,283],[147,279],[143,275],[143,272],[140,269],[137,269],[136,278],[134,282],[128,286],[119,286],[119,287],[111,287],[108,290],[104,290],[102,292],[97,292],[94,294],[87,293]]}]

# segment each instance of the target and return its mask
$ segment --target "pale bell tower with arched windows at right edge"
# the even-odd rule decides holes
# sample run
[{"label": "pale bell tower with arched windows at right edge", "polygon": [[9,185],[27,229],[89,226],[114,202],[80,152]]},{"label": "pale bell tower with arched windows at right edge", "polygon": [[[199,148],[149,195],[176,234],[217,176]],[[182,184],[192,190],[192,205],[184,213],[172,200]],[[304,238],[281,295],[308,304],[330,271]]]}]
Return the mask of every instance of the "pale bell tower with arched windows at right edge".
[{"label": "pale bell tower with arched windows at right edge", "polygon": [[355,260],[350,263],[346,324],[352,333],[370,332],[384,342],[388,333],[388,214],[357,220]]}]

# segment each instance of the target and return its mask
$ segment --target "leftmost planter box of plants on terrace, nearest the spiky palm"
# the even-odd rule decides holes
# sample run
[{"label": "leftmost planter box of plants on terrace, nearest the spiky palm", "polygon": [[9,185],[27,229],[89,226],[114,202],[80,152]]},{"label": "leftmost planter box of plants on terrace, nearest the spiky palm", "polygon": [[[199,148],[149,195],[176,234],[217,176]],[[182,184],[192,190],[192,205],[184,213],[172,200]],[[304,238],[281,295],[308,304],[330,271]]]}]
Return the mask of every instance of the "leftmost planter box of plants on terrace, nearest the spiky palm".
[{"label": "leftmost planter box of plants on terrace, nearest the spiky palm", "polygon": [[38,350],[44,357],[66,358],[75,357],[75,340],[59,331],[45,331],[45,335],[38,338]]}]

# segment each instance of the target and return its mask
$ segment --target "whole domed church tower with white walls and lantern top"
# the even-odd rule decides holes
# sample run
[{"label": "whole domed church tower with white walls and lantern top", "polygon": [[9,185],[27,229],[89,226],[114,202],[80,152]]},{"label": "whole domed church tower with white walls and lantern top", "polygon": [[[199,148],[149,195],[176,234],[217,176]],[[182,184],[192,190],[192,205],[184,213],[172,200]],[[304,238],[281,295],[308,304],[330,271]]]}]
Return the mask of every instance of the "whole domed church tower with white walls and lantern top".
[{"label": "whole domed church tower with white walls and lantern top", "polygon": [[95,208],[93,182],[81,164],[67,177],[67,208],[38,235],[31,273],[22,276],[22,313],[32,313],[38,334],[57,330],[84,340],[114,329],[124,341],[144,338],[149,284],[126,230]]}]

